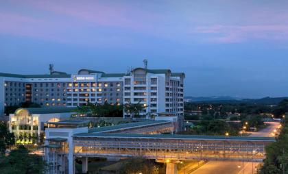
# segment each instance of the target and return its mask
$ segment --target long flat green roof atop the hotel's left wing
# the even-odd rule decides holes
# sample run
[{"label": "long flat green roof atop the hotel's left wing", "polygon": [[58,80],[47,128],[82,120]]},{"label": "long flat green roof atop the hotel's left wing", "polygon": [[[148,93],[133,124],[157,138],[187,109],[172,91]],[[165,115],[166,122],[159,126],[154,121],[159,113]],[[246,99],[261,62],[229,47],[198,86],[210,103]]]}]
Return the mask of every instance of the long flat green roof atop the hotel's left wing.
[{"label": "long flat green roof atop the hotel's left wing", "polygon": [[16,78],[69,78],[71,75],[68,74],[43,74],[43,75],[19,75],[10,73],[0,73],[0,77],[16,77]]}]

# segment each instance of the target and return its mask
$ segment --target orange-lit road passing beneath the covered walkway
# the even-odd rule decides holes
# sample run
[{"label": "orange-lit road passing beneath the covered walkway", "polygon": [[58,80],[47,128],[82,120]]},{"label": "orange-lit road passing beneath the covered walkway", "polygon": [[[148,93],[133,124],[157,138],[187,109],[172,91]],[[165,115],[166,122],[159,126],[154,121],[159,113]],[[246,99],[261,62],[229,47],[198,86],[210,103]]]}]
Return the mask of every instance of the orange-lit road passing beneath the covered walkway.
[{"label": "orange-lit road passing beneath the covered walkway", "polygon": [[[261,129],[259,132],[248,132],[250,136],[272,137],[274,129],[277,129],[280,123],[265,122],[268,127]],[[191,174],[252,174],[256,173],[255,166],[257,162],[229,162],[229,161],[210,161],[201,166],[199,169],[193,171]],[[254,171],[253,171],[254,169]],[[189,173],[187,173],[189,174]]]}]

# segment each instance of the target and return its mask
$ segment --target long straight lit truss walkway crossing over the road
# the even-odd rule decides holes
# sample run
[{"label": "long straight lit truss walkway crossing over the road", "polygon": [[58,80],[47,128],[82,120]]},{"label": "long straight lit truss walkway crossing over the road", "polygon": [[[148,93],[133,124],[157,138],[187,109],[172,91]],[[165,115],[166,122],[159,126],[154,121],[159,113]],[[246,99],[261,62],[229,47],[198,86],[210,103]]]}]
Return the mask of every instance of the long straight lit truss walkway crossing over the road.
[{"label": "long straight lit truss walkway crossing over the road", "polygon": [[75,156],[261,162],[269,137],[75,134]]}]

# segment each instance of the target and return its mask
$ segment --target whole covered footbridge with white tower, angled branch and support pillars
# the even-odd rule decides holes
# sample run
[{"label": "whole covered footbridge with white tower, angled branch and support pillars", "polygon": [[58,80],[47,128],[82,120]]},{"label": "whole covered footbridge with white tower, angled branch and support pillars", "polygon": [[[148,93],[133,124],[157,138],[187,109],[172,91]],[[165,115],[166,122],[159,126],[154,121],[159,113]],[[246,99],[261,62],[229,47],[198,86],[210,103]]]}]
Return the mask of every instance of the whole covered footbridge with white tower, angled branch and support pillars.
[{"label": "whole covered footbridge with white tower, angled branch and support pillars", "polygon": [[[275,141],[267,137],[178,135],[173,134],[174,127],[171,121],[143,121],[95,129],[48,128],[45,160],[53,166],[53,173],[73,174],[75,158],[82,158],[82,173],[86,173],[91,157],[155,159],[167,163],[167,173],[176,173],[176,163],[181,160],[261,162],[265,146]],[[163,134],[167,132],[172,134]]]}]

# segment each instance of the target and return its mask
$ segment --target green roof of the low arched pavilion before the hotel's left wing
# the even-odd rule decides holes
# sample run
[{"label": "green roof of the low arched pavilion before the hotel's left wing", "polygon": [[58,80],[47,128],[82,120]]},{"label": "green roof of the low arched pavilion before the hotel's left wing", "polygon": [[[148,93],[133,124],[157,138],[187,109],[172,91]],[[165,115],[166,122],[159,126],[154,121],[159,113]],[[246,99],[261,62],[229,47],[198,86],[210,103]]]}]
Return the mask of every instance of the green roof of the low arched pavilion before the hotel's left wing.
[{"label": "green roof of the low arched pavilion before the hotel's left wing", "polygon": [[28,110],[29,114],[51,114],[51,113],[73,112],[73,110],[77,108],[55,106],[55,107],[44,107],[44,108],[19,108],[18,110],[20,109]]}]

